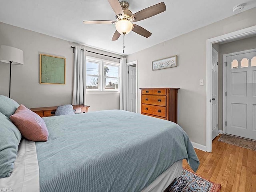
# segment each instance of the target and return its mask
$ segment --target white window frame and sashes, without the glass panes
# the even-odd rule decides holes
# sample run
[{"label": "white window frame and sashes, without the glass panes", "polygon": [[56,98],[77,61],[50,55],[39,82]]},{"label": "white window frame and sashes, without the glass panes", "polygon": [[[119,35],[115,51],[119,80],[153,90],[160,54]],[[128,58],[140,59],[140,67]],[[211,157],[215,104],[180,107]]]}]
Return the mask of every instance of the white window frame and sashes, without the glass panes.
[{"label": "white window frame and sashes, without the glass panes", "polygon": [[[118,62],[114,62],[114,61],[110,61],[110,60],[105,60],[105,59],[100,59],[100,58],[96,58],[96,57],[91,57],[91,56],[86,56],[86,62],[97,62],[100,64],[100,69],[99,69],[99,86],[98,89],[86,89],[86,93],[90,94],[94,94],[94,93],[120,93],[120,63]],[[111,66],[118,66],[118,89],[105,89],[105,84],[104,84],[104,79],[105,78],[112,78],[112,77],[108,77],[108,76],[104,76],[104,64],[106,65],[111,65]],[[86,73],[86,78],[87,76],[96,76],[96,75],[87,75]],[[97,76],[98,77],[98,76]],[[116,79],[116,78],[113,78]]]}]

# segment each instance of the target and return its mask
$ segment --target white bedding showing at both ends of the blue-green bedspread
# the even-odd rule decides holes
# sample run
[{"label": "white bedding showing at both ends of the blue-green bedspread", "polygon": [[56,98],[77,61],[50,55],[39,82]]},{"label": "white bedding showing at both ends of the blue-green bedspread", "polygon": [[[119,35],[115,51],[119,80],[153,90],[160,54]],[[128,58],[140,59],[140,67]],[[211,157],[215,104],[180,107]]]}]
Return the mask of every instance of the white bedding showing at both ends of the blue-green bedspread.
[{"label": "white bedding showing at both ends of the blue-green bedspread", "polygon": [[[40,192],[35,142],[22,140],[14,166],[10,177],[0,179],[0,189],[16,192]],[[141,192],[163,192],[181,174],[182,160],[175,162]]]}]

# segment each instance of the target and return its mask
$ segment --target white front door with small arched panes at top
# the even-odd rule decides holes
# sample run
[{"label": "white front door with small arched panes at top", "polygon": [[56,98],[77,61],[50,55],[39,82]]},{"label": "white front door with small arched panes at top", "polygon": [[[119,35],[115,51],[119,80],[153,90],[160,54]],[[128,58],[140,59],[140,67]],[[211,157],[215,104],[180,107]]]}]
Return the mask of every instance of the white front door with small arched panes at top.
[{"label": "white front door with small arched panes at top", "polygon": [[256,51],[226,56],[226,133],[256,140]]}]

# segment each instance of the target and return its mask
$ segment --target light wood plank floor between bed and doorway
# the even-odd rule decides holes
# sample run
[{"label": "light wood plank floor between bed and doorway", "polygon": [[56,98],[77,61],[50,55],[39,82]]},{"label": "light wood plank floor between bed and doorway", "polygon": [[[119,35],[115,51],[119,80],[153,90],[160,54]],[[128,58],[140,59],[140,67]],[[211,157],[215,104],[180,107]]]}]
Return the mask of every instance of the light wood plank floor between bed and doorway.
[{"label": "light wood plank floor between bed and doorway", "polygon": [[[200,166],[196,174],[221,184],[221,192],[256,192],[256,151],[218,141],[212,152],[195,149]],[[187,161],[183,167],[192,170]]]}]

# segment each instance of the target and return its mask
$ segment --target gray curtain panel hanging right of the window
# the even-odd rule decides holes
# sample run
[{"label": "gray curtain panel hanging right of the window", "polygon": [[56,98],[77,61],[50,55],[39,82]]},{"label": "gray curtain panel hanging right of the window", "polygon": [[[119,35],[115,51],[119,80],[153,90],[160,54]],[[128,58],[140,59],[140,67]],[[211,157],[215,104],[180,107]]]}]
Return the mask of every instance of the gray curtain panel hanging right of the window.
[{"label": "gray curtain panel hanging right of the window", "polygon": [[121,58],[120,66],[120,110],[128,111],[128,74],[126,70],[126,58]]}]

